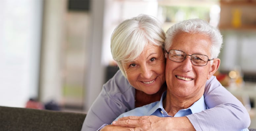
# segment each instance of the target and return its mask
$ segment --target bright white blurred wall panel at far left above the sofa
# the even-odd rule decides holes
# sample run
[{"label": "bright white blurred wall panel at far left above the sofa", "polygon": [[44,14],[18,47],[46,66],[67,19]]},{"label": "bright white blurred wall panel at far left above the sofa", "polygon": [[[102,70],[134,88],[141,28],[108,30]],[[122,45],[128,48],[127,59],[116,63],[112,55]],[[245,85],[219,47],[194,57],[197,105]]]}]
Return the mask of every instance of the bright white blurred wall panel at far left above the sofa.
[{"label": "bright white blurred wall panel at far left above the sofa", "polygon": [[0,1],[0,105],[38,97],[42,1]]}]

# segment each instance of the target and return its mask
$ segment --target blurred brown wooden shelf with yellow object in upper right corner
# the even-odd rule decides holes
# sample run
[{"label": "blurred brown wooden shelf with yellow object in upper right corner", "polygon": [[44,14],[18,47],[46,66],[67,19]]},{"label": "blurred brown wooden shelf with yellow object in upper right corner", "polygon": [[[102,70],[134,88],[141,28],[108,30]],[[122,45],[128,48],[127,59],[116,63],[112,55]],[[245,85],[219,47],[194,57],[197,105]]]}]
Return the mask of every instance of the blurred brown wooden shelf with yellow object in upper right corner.
[{"label": "blurred brown wooden shelf with yellow object in upper right corner", "polygon": [[220,29],[256,29],[256,0],[220,0]]}]

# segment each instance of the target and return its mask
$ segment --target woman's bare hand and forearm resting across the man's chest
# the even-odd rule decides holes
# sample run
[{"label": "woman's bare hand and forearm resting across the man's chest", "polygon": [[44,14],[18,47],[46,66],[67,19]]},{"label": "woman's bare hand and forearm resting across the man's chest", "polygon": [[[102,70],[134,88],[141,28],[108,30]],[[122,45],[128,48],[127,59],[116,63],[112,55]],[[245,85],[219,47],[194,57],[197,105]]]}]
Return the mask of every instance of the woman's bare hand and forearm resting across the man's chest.
[{"label": "woman's bare hand and forearm resting across the man's chest", "polygon": [[129,116],[119,118],[112,124],[133,127],[136,131],[169,131],[170,129],[195,131],[187,117]]}]

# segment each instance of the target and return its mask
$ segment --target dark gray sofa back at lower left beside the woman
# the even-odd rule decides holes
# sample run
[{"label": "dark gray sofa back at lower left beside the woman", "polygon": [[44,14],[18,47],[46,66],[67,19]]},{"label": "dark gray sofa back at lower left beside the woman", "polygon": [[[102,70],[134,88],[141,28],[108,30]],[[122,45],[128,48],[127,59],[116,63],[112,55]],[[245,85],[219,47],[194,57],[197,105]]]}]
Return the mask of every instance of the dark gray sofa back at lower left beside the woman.
[{"label": "dark gray sofa back at lower left beside the woman", "polygon": [[0,106],[0,131],[80,131],[84,113]]}]

